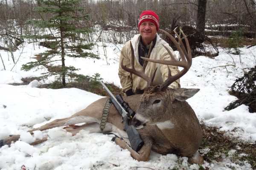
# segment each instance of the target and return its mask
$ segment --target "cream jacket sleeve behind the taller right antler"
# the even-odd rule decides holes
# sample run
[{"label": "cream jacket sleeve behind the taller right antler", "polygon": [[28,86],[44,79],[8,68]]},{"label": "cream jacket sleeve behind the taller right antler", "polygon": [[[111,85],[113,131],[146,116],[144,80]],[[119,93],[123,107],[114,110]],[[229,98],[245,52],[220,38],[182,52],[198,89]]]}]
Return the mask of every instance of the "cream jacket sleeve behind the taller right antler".
[{"label": "cream jacket sleeve behind the taller right antler", "polygon": [[[166,45],[166,44],[165,44]],[[168,47],[171,51],[171,53],[174,55],[174,57],[176,58],[176,55],[174,54],[172,48],[167,44],[166,47]],[[171,57],[170,55],[168,54],[167,50],[165,48],[161,48],[161,54],[163,56],[161,56],[161,59],[163,60],[170,60]],[[171,70],[171,74],[172,76],[179,73],[179,69],[177,66],[173,66],[173,65],[162,65],[160,66],[160,70],[161,70],[161,73],[162,73],[162,78],[163,78],[163,81],[165,81],[167,78],[168,78],[168,68],[170,68]],[[169,85],[170,88],[180,88],[180,79],[177,79],[175,82],[172,82],[170,85]]]}]

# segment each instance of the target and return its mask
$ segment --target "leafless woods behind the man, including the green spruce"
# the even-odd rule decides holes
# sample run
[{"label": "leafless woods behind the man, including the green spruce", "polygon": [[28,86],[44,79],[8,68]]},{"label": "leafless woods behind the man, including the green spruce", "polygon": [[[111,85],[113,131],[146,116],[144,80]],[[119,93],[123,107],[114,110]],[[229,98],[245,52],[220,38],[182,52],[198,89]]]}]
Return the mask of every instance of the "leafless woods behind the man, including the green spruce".
[{"label": "leafless woods behind the man, including the green spruce", "polygon": [[[82,49],[90,49],[95,42],[102,42],[103,46],[104,43],[124,44],[138,33],[138,18],[145,10],[155,11],[159,15],[160,28],[171,34],[182,27],[189,37],[194,57],[200,54],[215,57],[217,46],[229,48],[231,53],[233,49],[233,53],[239,54],[242,45],[255,45],[255,0],[69,0],[63,6],[61,2],[1,0],[0,49],[9,51],[15,64],[13,52],[24,38],[26,42],[40,42],[40,45],[51,48],[37,56],[41,61],[30,62],[22,69],[28,71],[44,66],[50,72],[44,78],[59,74],[56,81],[61,81],[64,86],[67,77],[71,81],[84,79],[75,73],[76,68],[65,66],[65,56],[97,58],[97,54],[83,53]],[[168,38],[160,36],[174,47]],[[206,53],[202,43],[210,43],[215,53]],[[49,60],[57,55],[61,55],[62,63],[53,69],[49,65],[53,61]]]}]

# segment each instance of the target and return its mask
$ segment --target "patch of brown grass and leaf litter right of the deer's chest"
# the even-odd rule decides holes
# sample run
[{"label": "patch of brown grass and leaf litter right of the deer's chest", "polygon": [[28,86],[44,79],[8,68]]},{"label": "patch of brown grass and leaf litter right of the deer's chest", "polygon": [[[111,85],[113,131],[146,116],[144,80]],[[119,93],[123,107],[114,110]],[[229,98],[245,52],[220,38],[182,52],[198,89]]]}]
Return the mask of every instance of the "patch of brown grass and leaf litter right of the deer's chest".
[{"label": "patch of brown grass and leaf litter right of the deer's chest", "polygon": [[[241,141],[228,136],[226,132],[218,130],[217,127],[206,126],[203,122],[201,122],[201,128],[203,130],[203,142],[200,150],[209,149],[203,156],[204,160],[208,162],[223,161],[224,157],[239,165],[243,165],[244,161],[247,161],[253,169],[256,169],[256,142]],[[236,150],[236,152],[229,155],[228,152],[231,149]]]}]

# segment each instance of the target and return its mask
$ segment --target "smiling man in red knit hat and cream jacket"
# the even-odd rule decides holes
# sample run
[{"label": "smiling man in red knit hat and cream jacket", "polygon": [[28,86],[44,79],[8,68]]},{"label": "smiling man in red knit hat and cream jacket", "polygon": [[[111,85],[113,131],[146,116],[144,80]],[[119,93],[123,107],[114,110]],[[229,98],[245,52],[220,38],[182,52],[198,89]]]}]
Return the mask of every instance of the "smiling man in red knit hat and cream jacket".
[{"label": "smiling man in red knit hat and cream jacket", "polygon": [[[140,34],[135,35],[130,41],[126,42],[121,51],[120,61],[123,60],[123,65],[128,68],[131,68],[131,48],[130,42],[134,48],[134,67],[136,70],[141,71],[143,68],[144,60],[140,57],[146,57],[150,48],[150,43],[153,42],[153,49],[149,58],[151,59],[162,59],[170,60],[170,55],[167,50],[163,47],[165,45],[173,53],[172,48],[167,42],[159,37],[157,34],[159,27],[159,18],[156,13],[153,11],[143,11],[140,15],[138,22],[138,29]],[[162,45],[163,44],[163,45]],[[175,56],[175,54],[174,54]],[[156,75],[154,77],[153,85],[162,84],[168,77],[168,66],[161,65],[153,62],[148,62],[147,67],[145,68],[145,74],[149,77],[152,77],[155,68],[157,68]],[[172,75],[175,75],[179,72],[177,66],[169,66]],[[124,71],[119,64],[118,72],[120,82],[122,85],[122,91],[127,95],[137,94],[139,91],[143,91],[147,82],[144,79],[140,80],[140,77],[137,77],[134,74],[130,74]],[[140,83],[140,84],[139,84]],[[139,84],[139,85],[138,85]],[[139,89],[137,89],[137,87]],[[180,88],[179,79],[169,85],[170,88]]]}]

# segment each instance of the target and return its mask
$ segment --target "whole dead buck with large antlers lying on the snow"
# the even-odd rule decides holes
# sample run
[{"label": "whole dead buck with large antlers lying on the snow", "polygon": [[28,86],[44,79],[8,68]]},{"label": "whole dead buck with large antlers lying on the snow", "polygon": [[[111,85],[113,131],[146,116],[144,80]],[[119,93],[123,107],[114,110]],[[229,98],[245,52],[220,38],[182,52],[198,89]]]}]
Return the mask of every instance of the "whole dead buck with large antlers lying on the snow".
[{"label": "whole dead buck with large antlers lying on the snow", "polygon": [[[175,153],[180,156],[186,156],[189,157],[189,162],[191,163],[204,164],[204,160],[198,152],[198,148],[202,142],[201,126],[195,112],[186,102],[186,99],[194,96],[199,89],[168,88],[172,82],[186,74],[192,64],[189,43],[186,36],[181,31],[184,39],[186,40],[186,51],[177,34],[176,36],[178,37],[179,43],[166,31],[163,32],[175,43],[175,46],[180,52],[180,61],[175,59],[168,48],[164,46],[172,58],[169,61],[144,58],[145,62],[143,65],[143,71],[137,71],[134,69],[134,57],[132,57],[131,61],[132,68],[126,68],[121,64],[125,71],[145,79],[148,84],[148,87],[145,89],[143,94],[124,97],[124,100],[129,103],[130,107],[134,111],[136,111],[134,119],[132,120],[132,125],[137,128],[145,144],[138,152],[135,152],[122,139],[127,138],[127,133],[123,131],[124,125],[121,122],[121,116],[113,105],[111,105],[109,110],[107,124],[104,131],[119,133],[122,138],[115,138],[114,141],[116,144],[123,149],[128,149],[131,152],[131,156],[138,161],[148,161],[150,151],[153,150],[161,154]],[[132,54],[134,54],[132,45],[131,51]],[[150,56],[150,54],[148,56]],[[154,76],[150,78],[144,73],[147,62],[176,65],[182,67],[183,70],[173,76],[169,70],[169,77],[162,85],[152,86]],[[79,111],[68,118],[56,119],[46,125],[29,130],[28,132],[33,134],[33,131],[35,130],[42,131],[53,127],[67,126],[65,129],[73,135],[82,129],[100,133],[101,130],[99,124],[102,117],[102,110],[107,99],[109,99],[109,97],[99,99],[90,104],[84,110]],[[68,126],[78,123],[85,124],[80,126]],[[11,135],[6,139],[1,140],[0,145],[3,146],[5,144],[11,144],[12,141],[15,142],[19,138],[20,135]],[[38,144],[46,140],[47,138],[45,137],[42,140],[33,142],[32,144]]]}]

